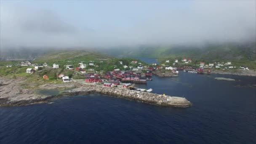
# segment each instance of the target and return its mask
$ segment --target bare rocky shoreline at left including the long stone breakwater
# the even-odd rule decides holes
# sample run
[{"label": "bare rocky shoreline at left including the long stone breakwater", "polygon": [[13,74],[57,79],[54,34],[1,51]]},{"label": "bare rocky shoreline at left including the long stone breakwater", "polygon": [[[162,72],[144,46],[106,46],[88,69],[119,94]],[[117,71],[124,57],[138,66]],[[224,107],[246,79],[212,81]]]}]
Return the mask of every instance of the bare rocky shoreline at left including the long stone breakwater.
[{"label": "bare rocky shoreline at left including the long stone breakwater", "polygon": [[[109,96],[116,96],[124,99],[141,101],[149,104],[172,106],[172,107],[190,107],[191,103],[181,97],[163,96],[154,93],[146,93],[141,91],[132,91],[125,88],[111,88],[101,85],[89,85],[78,82],[62,83],[62,84],[45,84],[35,89],[25,89],[20,86],[19,82],[14,79],[6,79],[3,85],[0,85],[0,106],[21,106],[27,104],[48,103],[65,96],[87,95],[90,93],[100,93]],[[37,94],[38,89],[56,89],[56,88],[75,88],[64,91],[61,94],[46,96]]]}]

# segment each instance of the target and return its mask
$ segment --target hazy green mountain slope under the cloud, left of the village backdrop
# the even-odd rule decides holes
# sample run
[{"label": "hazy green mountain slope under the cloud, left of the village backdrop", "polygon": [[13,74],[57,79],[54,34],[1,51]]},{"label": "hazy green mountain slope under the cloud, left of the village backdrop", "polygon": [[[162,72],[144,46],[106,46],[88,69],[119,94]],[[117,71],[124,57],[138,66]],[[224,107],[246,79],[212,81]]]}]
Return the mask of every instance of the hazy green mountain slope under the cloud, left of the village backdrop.
[{"label": "hazy green mountain slope under the cloud, left of the village backdrop", "polygon": [[111,56],[96,50],[85,49],[5,49],[1,51],[0,60],[29,60],[35,62],[43,61],[66,61],[69,59],[91,60],[91,59],[107,59]]}]

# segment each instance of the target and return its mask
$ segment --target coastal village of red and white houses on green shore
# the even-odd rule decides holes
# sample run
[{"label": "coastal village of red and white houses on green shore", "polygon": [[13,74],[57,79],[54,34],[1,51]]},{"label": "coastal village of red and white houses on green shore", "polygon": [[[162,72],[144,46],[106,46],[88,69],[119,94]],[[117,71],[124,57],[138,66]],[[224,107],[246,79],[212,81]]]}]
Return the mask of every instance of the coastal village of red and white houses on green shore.
[{"label": "coastal village of red and white houses on green shore", "polygon": [[[123,61],[122,61],[123,60]],[[113,62],[114,61],[114,62]],[[67,61],[70,63],[71,61]],[[113,64],[113,65],[112,65]],[[6,65],[7,68],[13,65]],[[249,70],[246,66],[236,67],[232,62],[205,62],[195,63],[192,59],[175,59],[162,61],[161,64],[146,64],[139,60],[113,59],[109,61],[74,61],[73,64],[32,64],[30,61],[21,61],[16,67],[27,67],[26,73],[33,75],[40,73],[43,80],[58,80],[63,83],[70,81],[83,81],[94,85],[104,85],[106,87],[129,88],[139,91],[152,91],[136,88],[135,84],[146,84],[147,80],[153,80],[152,75],[159,75],[157,72],[172,73],[171,76],[178,76],[179,71],[192,73],[210,74],[214,69],[243,69]],[[104,68],[103,68],[104,67]],[[54,71],[55,70],[55,71]],[[50,71],[54,71],[49,73]],[[15,75],[15,74],[14,74]],[[160,76],[160,75],[159,75]]]}]

